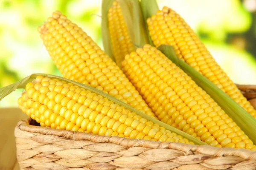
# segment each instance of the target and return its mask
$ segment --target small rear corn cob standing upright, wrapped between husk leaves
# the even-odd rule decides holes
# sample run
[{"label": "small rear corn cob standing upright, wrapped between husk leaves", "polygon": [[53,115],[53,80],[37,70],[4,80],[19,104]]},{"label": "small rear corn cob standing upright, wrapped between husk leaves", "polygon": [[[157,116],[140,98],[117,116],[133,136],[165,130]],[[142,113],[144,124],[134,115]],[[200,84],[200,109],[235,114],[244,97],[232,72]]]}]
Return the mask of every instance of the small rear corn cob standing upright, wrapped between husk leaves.
[{"label": "small rear corn cob standing upright, wrapped between husk leaves", "polygon": [[135,51],[128,28],[118,1],[114,1],[108,10],[108,28],[117,65],[120,67],[125,55]]}]

